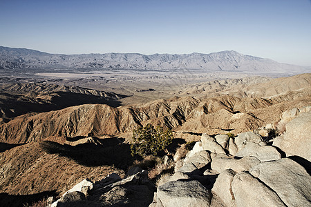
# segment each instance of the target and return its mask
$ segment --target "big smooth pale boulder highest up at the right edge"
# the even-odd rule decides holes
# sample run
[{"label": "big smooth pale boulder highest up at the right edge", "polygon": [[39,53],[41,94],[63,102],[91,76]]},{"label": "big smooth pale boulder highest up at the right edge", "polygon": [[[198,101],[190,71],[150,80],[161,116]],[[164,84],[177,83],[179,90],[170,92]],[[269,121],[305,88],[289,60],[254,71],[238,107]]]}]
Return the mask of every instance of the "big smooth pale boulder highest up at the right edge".
[{"label": "big smooth pale boulder highest up at the right edge", "polygon": [[304,112],[286,124],[283,137],[274,140],[273,145],[279,147],[287,156],[298,155],[311,161],[311,112]]}]

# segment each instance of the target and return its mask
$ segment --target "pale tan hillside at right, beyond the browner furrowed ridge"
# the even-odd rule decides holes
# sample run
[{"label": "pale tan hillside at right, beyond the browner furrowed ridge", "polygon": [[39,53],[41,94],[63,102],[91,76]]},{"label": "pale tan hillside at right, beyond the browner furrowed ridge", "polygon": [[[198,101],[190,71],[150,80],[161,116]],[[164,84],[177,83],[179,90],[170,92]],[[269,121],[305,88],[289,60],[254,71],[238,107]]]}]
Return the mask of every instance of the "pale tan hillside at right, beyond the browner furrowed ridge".
[{"label": "pale tan hillside at right, beyond the browner furrowed ridge", "polygon": [[215,97],[233,95],[235,97],[270,98],[286,92],[310,88],[311,74],[270,79],[266,77],[247,77],[243,79],[223,79],[184,86],[180,95]]}]

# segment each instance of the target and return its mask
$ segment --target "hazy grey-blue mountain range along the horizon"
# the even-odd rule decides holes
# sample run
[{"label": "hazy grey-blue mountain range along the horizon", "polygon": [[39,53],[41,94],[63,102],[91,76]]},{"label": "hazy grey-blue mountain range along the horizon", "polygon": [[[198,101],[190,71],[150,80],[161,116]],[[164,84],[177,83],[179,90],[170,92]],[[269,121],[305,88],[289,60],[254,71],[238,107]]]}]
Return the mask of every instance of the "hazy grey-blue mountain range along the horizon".
[{"label": "hazy grey-blue mountain range along the horizon", "polygon": [[302,66],[278,63],[271,59],[242,55],[233,50],[210,54],[191,53],[182,55],[139,53],[105,53],[59,55],[0,46],[0,69],[23,68],[71,68],[71,69],[137,69],[171,70],[198,69],[208,71],[287,72],[310,70]]}]

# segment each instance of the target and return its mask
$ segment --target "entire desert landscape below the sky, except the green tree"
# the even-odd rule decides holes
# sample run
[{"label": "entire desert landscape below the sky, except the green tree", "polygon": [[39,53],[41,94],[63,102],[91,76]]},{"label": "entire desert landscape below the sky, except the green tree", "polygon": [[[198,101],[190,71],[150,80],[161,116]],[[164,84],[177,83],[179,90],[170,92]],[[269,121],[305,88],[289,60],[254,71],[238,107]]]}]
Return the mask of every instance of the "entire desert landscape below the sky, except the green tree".
[{"label": "entire desert landscape below the sky, except the green tree", "polygon": [[[311,67],[0,47],[0,206],[311,206]],[[171,130],[131,155],[133,130]]]}]

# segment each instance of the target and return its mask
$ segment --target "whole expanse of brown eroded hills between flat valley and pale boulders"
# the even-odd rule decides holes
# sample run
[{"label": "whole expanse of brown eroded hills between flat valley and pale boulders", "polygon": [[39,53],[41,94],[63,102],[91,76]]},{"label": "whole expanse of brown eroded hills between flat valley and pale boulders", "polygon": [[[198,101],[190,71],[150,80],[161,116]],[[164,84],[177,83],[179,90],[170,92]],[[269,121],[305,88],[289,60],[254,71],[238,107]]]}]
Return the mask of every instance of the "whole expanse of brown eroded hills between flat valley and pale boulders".
[{"label": "whole expanse of brown eroded hills between flat valley and pale boulders", "polygon": [[[150,123],[171,128],[176,141],[183,140],[180,143],[198,141],[204,133],[237,135],[267,125],[276,128],[285,110],[311,106],[310,77],[265,79],[265,83],[258,78],[254,85],[251,80],[247,85],[245,80],[202,83],[216,95],[205,95],[209,90],[198,88],[189,92],[194,96],[186,92],[171,99],[117,107],[96,102],[119,101],[122,96],[114,93],[41,83],[2,85],[1,94],[15,100],[10,102],[15,105],[1,105],[0,199],[6,201],[1,204],[22,206],[59,195],[86,175],[92,181],[112,172],[124,176],[134,161],[129,144],[138,126]],[[22,103],[30,100],[34,110],[21,110]],[[83,101],[88,104],[80,105]],[[9,118],[8,111],[12,112]]]}]

